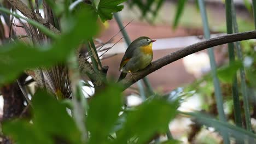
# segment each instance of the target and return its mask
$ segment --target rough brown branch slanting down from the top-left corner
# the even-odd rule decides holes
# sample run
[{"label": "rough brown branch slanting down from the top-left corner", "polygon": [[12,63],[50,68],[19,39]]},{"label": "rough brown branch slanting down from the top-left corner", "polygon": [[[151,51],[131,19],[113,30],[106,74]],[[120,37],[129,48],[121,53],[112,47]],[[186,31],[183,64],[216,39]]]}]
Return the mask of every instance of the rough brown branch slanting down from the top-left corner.
[{"label": "rough brown branch slanting down from the top-left corner", "polygon": [[13,5],[16,9],[18,9],[24,16],[26,16],[28,19],[36,20],[39,23],[42,23],[44,26],[49,27],[51,31],[53,31],[56,34],[60,34],[59,29],[54,27],[51,23],[43,19],[40,15],[36,14],[36,19],[34,19],[33,13],[31,12],[31,9],[27,7],[25,3],[23,3],[20,0],[8,0],[11,5]]}]

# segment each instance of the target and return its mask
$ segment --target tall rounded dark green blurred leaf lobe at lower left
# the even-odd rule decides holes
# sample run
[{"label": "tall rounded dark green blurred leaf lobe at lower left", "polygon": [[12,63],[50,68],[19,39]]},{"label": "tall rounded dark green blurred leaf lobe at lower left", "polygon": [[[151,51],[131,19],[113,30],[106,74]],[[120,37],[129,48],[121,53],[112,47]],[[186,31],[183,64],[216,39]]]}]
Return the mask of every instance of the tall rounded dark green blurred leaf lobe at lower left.
[{"label": "tall rounded dark green blurred leaf lobe at lower left", "polygon": [[38,91],[32,99],[35,126],[50,136],[78,143],[80,132],[68,115],[65,105],[45,91]]}]

